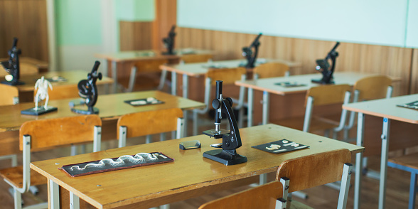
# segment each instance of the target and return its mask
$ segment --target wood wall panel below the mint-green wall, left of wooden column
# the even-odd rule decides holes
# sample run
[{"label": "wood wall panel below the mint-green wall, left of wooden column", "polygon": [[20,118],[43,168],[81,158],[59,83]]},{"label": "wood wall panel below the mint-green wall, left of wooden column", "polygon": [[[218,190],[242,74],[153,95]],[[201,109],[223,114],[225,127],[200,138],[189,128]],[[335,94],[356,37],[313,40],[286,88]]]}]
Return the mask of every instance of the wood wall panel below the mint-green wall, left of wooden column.
[{"label": "wood wall panel below the mint-green wall, left of wooden column", "polygon": [[149,50],[152,48],[154,22],[119,21],[120,50]]}]

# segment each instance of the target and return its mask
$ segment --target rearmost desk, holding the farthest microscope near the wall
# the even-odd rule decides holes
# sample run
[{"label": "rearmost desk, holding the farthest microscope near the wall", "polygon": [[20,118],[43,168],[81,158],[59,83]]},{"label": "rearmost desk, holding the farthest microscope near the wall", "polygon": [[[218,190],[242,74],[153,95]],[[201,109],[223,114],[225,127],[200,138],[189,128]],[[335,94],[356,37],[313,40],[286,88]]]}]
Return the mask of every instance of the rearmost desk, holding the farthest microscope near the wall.
[{"label": "rearmost desk, holding the farthest microscope near the wall", "polygon": [[175,55],[163,55],[159,50],[134,50],[122,51],[119,53],[97,53],[96,58],[102,58],[107,61],[107,73],[114,79],[114,90],[117,90],[117,71],[118,65],[127,63],[133,65],[138,61],[150,60],[168,60],[168,63],[178,63],[182,55],[186,54],[212,54],[210,50],[198,50],[193,48],[184,48],[175,50]]}]

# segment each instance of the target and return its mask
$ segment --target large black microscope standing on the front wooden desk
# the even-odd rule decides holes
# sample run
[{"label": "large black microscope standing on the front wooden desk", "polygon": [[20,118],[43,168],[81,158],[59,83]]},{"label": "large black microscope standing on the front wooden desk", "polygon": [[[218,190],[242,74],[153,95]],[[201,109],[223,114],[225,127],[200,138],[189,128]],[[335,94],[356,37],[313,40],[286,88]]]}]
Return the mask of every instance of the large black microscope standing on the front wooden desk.
[{"label": "large black microscope standing on the front wooden desk", "polygon": [[[231,98],[223,98],[222,83],[223,81],[221,80],[216,81],[216,99],[212,101],[212,106],[215,108],[215,129],[203,132],[203,134],[215,139],[222,138],[222,144],[212,145],[213,147],[222,149],[205,151],[203,157],[225,164],[226,166],[242,164],[247,162],[247,157],[237,154],[236,149],[242,145],[240,131],[238,130],[237,120],[232,112]],[[220,129],[222,112],[225,112],[227,115],[228,122],[230,123],[230,132],[225,129]]]}]

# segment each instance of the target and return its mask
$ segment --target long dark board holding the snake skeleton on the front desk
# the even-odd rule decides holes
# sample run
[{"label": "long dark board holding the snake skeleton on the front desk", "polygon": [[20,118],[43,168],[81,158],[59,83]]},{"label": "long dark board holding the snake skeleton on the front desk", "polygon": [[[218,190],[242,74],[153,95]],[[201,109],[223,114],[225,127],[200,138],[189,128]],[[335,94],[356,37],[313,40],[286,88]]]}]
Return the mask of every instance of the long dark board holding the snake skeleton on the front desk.
[{"label": "long dark board holding the snake skeleton on the front desk", "polygon": [[[106,164],[103,167],[87,167],[85,168],[85,166],[87,164],[99,164],[99,162],[101,160],[97,160],[97,161],[89,161],[89,162],[84,162],[84,163],[80,163],[80,164],[68,164],[65,166],[62,166],[61,168],[59,168],[62,171],[65,171],[65,173],[68,173],[68,175],[70,175],[71,177],[76,177],[76,176],[84,176],[84,175],[88,175],[88,174],[92,174],[92,173],[102,173],[102,172],[107,172],[107,171],[116,171],[116,170],[121,170],[121,169],[125,169],[125,168],[134,168],[134,167],[139,167],[139,166],[149,166],[149,165],[154,165],[154,164],[164,164],[164,163],[169,163],[169,162],[173,162],[174,159],[166,156],[165,154],[162,154],[161,152],[151,152],[149,154],[158,154],[158,159],[155,161],[151,161],[149,159],[144,158],[143,162],[140,162],[138,164],[132,163],[129,160],[125,160],[123,165],[119,165],[119,166],[112,166],[110,164]],[[135,155],[132,155],[135,156]],[[113,161],[116,161],[119,157],[116,158],[112,158]],[[85,168],[84,170],[78,170],[78,169],[71,169],[71,167],[73,166],[78,166],[79,168]]]}]

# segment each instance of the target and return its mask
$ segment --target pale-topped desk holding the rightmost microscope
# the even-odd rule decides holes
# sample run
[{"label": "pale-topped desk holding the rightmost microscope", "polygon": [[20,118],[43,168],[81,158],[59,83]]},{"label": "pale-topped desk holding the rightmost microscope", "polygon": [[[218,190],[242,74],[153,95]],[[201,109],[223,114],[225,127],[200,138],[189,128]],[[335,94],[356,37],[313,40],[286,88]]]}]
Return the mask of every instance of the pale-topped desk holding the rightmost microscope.
[{"label": "pale-topped desk holding the rightmost microscope", "polygon": [[[357,80],[370,75],[376,75],[371,73],[356,73],[356,72],[336,72],[334,73],[334,80],[336,84],[348,84],[354,85]],[[275,95],[294,95],[305,93],[309,88],[317,86],[319,84],[311,82],[312,79],[321,79],[322,74],[305,74],[305,75],[291,75],[289,77],[270,77],[259,80],[246,80],[235,81],[235,85],[248,88],[248,127],[252,126],[253,118],[253,105],[254,105],[254,90],[263,92],[262,99],[262,124],[269,122],[269,93]],[[399,79],[395,79],[399,80]],[[299,87],[282,87],[276,85],[277,82],[296,82],[303,84]],[[304,102],[304,101],[301,101]],[[303,104],[303,103],[302,103]],[[293,105],[293,104],[292,104]],[[280,107],[282,108],[282,107]]]}]

